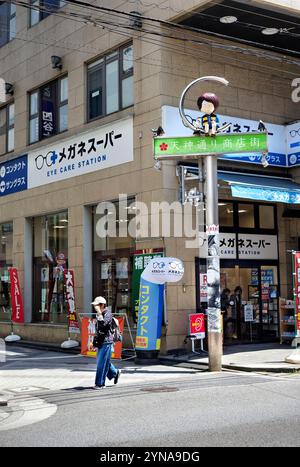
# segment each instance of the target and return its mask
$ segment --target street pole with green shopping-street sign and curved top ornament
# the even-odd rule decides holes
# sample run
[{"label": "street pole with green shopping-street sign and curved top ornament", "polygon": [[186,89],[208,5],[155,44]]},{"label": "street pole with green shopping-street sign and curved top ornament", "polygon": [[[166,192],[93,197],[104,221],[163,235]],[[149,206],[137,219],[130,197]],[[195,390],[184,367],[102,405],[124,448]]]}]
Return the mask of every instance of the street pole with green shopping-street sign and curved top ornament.
[{"label": "street pole with green shopping-street sign and curved top ornament", "polygon": [[[218,214],[218,156],[224,154],[260,153],[262,164],[266,166],[266,154],[268,152],[267,131],[261,122],[257,132],[251,133],[226,133],[229,123],[218,127],[217,134],[203,133],[184,113],[184,100],[186,93],[192,86],[203,81],[212,81],[227,86],[229,82],[218,76],[203,76],[195,79],[183,90],[179,101],[179,114],[185,127],[194,132],[193,136],[164,137],[161,127],[152,130],[154,136],[154,159],[156,163],[170,159],[198,160],[199,167],[199,193],[202,192],[202,160],[205,164],[205,204],[206,204],[206,235],[207,240],[207,331],[208,331],[208,358],[210,371],[222,370],[222,321],[220,304],[220,245],[219,245],[219,214]],[[200,96],[204,97],[204,96]],[[217,97],[217,96],[215,96]],[[200,98],[199,98],[200,99]],[[198,100],[199,100],[198,99]],[[198,105],[198,101],[197,101]],[[206,114],[207,112],[205,112]],[[212,114],[211,114],[212,115]],[[197,120],[194,120],[197,122]],[[206,121],[207,125],[207,121]],[[159,132],[158,132],[159,130]],[[199,133],[199,136],[195,136]],[[242,145],[241,145],[242,138]],[[229,143],[229,144],[228,144]],[[199,147],[201,145],[201,148]],[[202,246],[201,239],[204,234],[203,202],[198,203],[198,241],[199,251]],[[203,222],[201,222],[203,220]],[[199,254],[199,258],[201,255]]]}]

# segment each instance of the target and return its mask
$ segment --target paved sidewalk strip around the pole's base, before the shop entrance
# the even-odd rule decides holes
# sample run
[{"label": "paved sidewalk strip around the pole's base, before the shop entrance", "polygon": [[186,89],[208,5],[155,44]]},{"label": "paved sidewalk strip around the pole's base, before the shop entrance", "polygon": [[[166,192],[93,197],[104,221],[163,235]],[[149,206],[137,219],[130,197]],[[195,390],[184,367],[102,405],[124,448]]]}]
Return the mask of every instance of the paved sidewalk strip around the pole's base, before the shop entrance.
[{"label": "paved sidewalk strip around the pole's base, before the shop entrance", "polygon": [[[222,368],[238,371],[260,371],[275,373],[300,372],[300,364],[287,363],[285,358],[292,353],[299,353],[300,349],[278,343],[271,344],[243,344],[226,346],[223,349]],[[201,352],[177,355],[171,354],[160,357],[163,363],[185,363],[193,368],[207,367],[208,355]]]}]

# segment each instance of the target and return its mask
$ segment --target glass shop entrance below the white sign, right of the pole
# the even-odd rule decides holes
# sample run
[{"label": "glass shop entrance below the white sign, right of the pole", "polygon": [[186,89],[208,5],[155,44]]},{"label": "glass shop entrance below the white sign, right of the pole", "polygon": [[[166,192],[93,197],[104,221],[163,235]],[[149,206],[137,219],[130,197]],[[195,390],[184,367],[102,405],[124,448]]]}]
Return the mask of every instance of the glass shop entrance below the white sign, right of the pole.
[{"label": "glass shop entrance below the white sign, right of the pole", "polygon": [[221,261],[224,342],[276,340],[278,296],[277,265]]}]

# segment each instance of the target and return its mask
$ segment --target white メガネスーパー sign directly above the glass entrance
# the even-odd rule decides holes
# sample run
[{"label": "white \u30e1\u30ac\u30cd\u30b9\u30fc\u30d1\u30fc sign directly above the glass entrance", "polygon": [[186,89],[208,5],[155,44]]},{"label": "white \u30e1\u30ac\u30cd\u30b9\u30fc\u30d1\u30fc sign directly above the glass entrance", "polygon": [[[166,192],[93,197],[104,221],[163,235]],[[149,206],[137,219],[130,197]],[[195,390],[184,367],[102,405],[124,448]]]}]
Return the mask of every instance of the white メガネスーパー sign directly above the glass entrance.
[{"label": "white \u30e1\u30ac\u30cd\u30b9\u30fc\u30d1\u30fc sign directly above the glass entrance", "polygon": [[[221,259],[278,259],[276,235],[219,234],[219,253]],[[200,248],[200,257],[207,258],[207,240]]]}]

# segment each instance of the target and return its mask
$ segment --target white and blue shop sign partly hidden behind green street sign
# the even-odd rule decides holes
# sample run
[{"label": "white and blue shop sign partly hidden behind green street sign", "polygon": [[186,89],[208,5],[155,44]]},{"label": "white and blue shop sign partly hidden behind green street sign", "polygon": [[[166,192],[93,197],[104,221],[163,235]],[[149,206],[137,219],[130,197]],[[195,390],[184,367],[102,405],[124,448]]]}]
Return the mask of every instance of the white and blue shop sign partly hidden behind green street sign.
[{"label": "white and blue shop sign partly hidden behind green street sign", "polygon": [[[196,119],[199,117],[199,111],[196,110],[186,109],[185,113],[190,117],[190,119]],[[229,115],[218,116],[220,119],[220,125],[231,123],[231,126],[227,131],[228,133],[230,132],[236,135],[241,135],[241,133],[249,133],[249,135],[251,135],[258,130],[257,120],[248,120],[244,118],[232,117]],[[273,166],[286,167],[286,138],[288,127],[284,125],[274,125],[273,123],[268,122],[266,122],[265,125],[268,130],[267,161],[270,165]],[[182,124],[177,107],[162,107],[162,127],[165,131],[166,137],[171,137],[174,135],[191,136],[191,130]],[[226,135],[226,132],[224,134]],[[220,159],[235,160],[248,164],[261,164],[261,154],[257,153],[259,151],[256,152],[255,148],[251,149],[250,154],[229,154],[230,152],[231,151],[225,151],[225,154],[221,156]],[[239,152],[242,151],[239,150]]]}]

